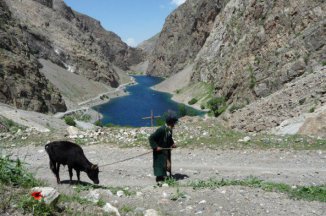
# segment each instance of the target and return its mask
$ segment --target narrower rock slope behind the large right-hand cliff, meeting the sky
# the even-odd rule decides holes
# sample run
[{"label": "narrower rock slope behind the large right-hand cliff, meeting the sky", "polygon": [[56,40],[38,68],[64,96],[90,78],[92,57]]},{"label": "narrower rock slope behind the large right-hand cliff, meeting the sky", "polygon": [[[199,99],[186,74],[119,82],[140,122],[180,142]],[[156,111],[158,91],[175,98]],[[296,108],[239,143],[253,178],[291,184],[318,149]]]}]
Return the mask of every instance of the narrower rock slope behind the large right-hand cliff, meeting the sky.
[{"label": "narrower rock slope behind the large right-hand cliff, meeting the sky", "polygon": [[168,76],[195,59],[227,0],[188,0],[166,19],[150,57],[148,74]]}]

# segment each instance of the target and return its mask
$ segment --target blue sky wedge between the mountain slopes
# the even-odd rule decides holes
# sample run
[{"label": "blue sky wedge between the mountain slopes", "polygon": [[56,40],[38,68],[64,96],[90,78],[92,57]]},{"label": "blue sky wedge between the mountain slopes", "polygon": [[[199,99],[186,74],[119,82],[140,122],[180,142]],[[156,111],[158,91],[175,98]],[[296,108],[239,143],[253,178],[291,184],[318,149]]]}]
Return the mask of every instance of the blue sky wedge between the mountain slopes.
[{"label": "blue sky wedge between the mountain slopes", "polygon": [[165,18],[186,0],[64,0],[73,10],[93,17],[129,46],[159,33]]}]

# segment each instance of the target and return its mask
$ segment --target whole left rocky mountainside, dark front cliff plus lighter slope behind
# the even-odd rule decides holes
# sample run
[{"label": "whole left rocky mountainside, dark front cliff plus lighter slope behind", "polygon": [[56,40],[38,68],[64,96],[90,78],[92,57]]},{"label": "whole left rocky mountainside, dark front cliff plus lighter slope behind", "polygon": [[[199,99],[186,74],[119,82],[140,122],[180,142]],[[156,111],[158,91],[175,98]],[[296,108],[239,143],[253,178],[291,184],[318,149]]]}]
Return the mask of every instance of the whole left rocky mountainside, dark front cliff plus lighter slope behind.
[{"label": "whole left rocky mountainside, dark front cliff plus lighter slope behind", "polygon": [[0,101],[38,112],[65,111],[57,89],[39,73],[38,59],[68,72],[119,86],[114,66],[128,69],[143,52],[63,0],[1,0]]}]

